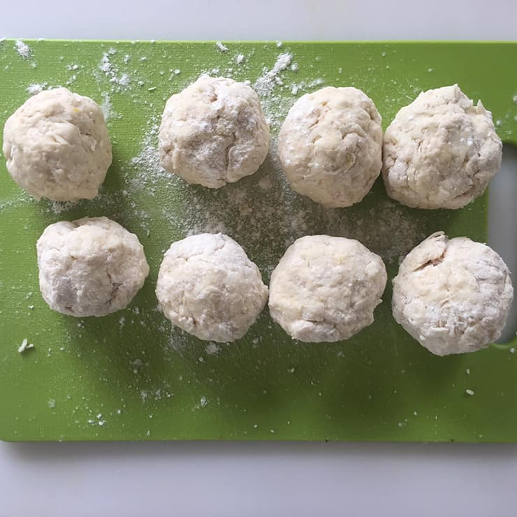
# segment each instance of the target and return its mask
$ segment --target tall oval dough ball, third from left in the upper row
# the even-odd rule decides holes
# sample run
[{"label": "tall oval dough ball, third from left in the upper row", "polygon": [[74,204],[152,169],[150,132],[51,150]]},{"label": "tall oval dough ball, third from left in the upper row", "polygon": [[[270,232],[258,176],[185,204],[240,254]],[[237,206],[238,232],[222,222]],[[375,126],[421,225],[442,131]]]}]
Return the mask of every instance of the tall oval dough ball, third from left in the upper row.
[{"label": "tall oval dough ball, third from left in the upper row", "polygon": [[278,136],[291,187],[328,207],[361,201],[381,173],[381,115],[360,89],[326,87],[300,97]]}]

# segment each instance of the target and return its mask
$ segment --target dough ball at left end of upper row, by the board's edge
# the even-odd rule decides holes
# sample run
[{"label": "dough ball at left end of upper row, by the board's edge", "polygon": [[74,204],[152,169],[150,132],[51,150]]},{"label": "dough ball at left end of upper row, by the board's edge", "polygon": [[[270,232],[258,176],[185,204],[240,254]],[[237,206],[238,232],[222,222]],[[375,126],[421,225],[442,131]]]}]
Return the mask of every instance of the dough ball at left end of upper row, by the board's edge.
[{"label": "dough ball at left end of upper row, by the board's edge", "polygon": [[111,163],[111,143],[99,105],[66,88],[41,92],[3,128],[7,170],[34,198],[93,199]]}]

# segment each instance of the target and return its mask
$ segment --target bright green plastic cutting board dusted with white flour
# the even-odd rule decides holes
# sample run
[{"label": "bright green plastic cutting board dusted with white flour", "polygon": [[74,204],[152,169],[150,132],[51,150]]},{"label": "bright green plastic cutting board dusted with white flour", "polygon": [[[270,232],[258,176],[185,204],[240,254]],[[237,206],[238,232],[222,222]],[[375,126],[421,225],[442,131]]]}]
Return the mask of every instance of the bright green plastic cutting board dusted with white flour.
[{"label": "bright green plastic cutting board dusted with white flour", "polygon": [[[463,210],[412,210],[379,180],[362,203],[323,209],[289,189],[275,137],[292,103],[323,85],[363,89],[386,128],[421,90],[458,82],[516,143],[516,44],[26,43],[0,43],[1,125],[31,85],[67,86],[109,112],[113,163],[100,196],[71,205],[32,200],[0,160],[2,439],[517,440],[516,342],[432,356],[393,320],[391,282],[375,323],[335,344],[295,342],[267,310],[238,342],[201,342],[172,328],[154,296],[163,252],[187,233],[228,233],[265,281],[307,233],[360,239],[383,256],[390,278],[434,231],[486,241],[486,195]],[[252,85],[261,78],[273,136],[260,170],[218,191],[185,184],[156,161],[166,99],[202,72]],[[35,244],[48,224],[87,215],[136,233],[151,272],[126,310],[75,319],[43,302]],[[34,349],[19,354],[24,338]]]}]

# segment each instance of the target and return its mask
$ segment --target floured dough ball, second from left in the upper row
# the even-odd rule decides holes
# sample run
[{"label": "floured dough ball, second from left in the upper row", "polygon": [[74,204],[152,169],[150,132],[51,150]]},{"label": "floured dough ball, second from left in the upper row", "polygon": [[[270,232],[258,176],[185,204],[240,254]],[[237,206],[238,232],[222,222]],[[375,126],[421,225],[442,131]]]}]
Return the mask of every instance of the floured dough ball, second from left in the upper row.
[{"label": "floured dough ball, second from left in the upper row", "polygon": [[253,174],[269,147],[269,127],[252,88],[203,76],[167,101],[159,133],[163,168],[211,189]]}]

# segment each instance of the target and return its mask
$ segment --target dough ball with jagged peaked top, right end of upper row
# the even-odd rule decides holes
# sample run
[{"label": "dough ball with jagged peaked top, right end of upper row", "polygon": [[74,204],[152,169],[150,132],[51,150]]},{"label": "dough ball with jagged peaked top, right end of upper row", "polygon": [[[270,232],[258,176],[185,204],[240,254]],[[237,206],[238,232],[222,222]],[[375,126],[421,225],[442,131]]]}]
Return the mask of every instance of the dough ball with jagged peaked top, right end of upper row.
[{"label": "dough ball with jagged peaked top, right end of upper row", "polygon": [[416,208],[461,208],[501,168],[492,114],[458,85],[430,89],[402,108],[384,133],[388,195]]}]

